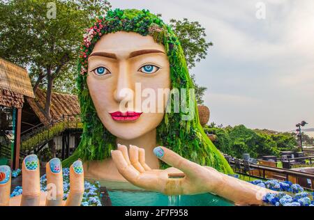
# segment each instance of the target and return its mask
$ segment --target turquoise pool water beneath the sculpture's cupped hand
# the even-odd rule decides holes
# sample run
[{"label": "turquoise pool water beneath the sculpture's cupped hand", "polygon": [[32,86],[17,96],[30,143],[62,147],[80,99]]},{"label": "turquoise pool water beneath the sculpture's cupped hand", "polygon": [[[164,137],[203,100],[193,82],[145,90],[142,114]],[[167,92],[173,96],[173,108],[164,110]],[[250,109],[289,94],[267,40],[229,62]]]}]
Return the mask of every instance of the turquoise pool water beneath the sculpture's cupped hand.
[{"label": "turquoise pool water beneath the sculpture's cupped hand", "polygon": [[150,191],[108,191],[114,206],[231,206],[229,201],[213,194],[165,196]]}]

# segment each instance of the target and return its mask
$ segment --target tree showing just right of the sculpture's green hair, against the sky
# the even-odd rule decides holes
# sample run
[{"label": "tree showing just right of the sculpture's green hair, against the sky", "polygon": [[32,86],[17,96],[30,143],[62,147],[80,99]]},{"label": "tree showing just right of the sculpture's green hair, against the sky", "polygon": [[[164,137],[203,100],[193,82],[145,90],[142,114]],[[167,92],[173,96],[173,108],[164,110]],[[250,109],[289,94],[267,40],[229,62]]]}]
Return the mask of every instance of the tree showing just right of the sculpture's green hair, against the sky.
[{"label": "tree showing just right of the sculpture's green hair, against the sky", "polygon": [[[191,69],[195,67],[195,63],[206,58],[207,50],[210,46],[213,46],[212,42],[206,42],[205,29],[199,22],[189,22],[186,18],[182,21],[170,19],[170,24],[181,42],[188,68]],[[203,104],[204,100],[202,97],[207,88],[196,84],[195,74],[191,74],[191,78],[195,86],[196,102],[197,104]]]}]

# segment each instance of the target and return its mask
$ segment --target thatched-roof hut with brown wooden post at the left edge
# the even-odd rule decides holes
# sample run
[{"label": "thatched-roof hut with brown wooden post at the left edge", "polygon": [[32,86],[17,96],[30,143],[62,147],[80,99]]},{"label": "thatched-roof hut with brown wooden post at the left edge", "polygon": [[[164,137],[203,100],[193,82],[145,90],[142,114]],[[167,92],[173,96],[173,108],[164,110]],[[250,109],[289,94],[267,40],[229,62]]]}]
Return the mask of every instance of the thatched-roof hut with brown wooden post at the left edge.
[{"label": "thatched-roof hut with brown wooden post at the left edge", "polygon": [[[11,167],[20,164],[20,132],[22,107],[25,97],[34,97],[27,70],[0,58],[0,154],[6,150]],[[3,142],[10,139],[12,148],[4,149]],[[10,143],[9,141],[9,143]],[[6,146],[7,147],[7,146]]]}]

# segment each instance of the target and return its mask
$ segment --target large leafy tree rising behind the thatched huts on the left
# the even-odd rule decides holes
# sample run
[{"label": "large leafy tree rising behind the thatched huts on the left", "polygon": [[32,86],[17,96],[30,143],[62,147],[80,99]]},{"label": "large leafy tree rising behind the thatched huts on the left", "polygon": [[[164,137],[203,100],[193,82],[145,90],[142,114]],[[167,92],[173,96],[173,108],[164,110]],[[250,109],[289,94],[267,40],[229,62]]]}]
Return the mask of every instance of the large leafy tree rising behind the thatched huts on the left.
[{"label": "large leafy tree rising behind the thatched huts on the left", "polygon": [[110,7],[105,0],[0,2],[0,56],[29,69],[33,91],[47,89],[42,111],[48,120],[54,82],[73,74],[89,19]]}]

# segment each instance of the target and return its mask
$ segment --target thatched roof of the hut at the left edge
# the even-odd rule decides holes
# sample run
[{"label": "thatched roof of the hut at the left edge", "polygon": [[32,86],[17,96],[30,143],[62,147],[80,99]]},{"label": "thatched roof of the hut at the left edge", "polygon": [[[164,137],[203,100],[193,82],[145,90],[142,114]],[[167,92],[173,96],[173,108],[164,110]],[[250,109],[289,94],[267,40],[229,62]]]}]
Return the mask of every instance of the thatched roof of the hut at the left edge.
[{"label": "thatched roof of the hut at the left edge", "polygon": [[0,105],[22,108],[23,95],[34,97],[27,70],[0,58]]}]

